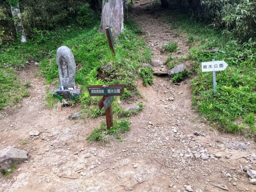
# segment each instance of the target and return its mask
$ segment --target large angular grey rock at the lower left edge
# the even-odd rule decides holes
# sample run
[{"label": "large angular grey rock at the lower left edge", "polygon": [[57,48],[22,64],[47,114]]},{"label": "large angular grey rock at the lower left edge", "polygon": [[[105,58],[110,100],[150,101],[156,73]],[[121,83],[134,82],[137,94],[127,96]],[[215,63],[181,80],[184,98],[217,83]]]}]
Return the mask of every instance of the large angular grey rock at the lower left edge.
[{"label": "large angular grey rock at the lower left edge", "polygon": [[0,172],[7,171],[12,167],[12,163],[19,164],[23,161],[26,161],[30,155],[21,151],[20,149],[16,149],[14,147],[7,147],[0,151]]}]

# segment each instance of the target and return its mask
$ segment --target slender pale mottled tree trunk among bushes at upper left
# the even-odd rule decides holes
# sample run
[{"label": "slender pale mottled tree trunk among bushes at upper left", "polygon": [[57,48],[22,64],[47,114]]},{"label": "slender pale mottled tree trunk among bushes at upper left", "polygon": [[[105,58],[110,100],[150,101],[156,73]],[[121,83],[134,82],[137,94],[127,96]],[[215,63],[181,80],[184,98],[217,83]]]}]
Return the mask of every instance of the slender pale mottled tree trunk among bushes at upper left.
[{"label": "slender pale mottled tree trunk among bushes at upper left", "polygon": [[27,42],[27,38],[26,38],[26,34],[25,34],[25,30],[23,28],[23,25],[20,22],[21,21],[21,14],[20,14],[19,3],[17,3],[17,6],[15,6],[15,7],[13,7],[11,5],[11,10],[12,10],[12,17],[17,16],[18,19],[19,19],[18,23],[16,23],[15,20],[14,20],[16,32],[17,32],[17,34],[21,35],[21,42],[25,43],[25,42]]}]

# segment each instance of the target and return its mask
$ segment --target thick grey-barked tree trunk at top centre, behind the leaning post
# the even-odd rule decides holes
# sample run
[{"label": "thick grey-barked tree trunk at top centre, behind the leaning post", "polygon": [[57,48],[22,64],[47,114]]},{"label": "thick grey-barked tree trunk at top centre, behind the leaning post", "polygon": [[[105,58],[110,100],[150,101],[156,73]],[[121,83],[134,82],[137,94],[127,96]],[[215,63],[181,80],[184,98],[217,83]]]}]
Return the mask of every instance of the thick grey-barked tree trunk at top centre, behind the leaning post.
[{"label": "thick grey-barked tree trunk at top centre, behind the leaning post", "polygon": [[99,31],[105,32],[106,27],[111,28],[114,38],[124,29],[123,0],[103,0]]}]

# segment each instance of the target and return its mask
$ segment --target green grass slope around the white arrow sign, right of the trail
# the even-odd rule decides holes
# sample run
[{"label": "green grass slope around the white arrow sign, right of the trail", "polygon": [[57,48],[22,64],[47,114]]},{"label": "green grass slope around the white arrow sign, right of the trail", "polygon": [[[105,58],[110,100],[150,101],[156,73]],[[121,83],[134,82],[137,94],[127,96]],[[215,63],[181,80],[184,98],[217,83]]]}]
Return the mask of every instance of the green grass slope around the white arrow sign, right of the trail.
[{"label": "green grass slope around the white arrow sign, right of the trail", "polygon": [[[255,137],[255,41],[242,42],[225,36],[216,28],[189,19],[186,14],[173,13],[170,22],[172,29],[188,39],[189,59],[198,74],[192,80],[192,91],[193,104],[199,114],[220,130]],[[199,53],[210,49],[219,52]],[[226,70],[216,72],[216,96],[213,95],[212,72],[201,72],[201,62],[212,59],[225,60],[229,65]],[[172,59],[168,62],[174,63]]]}]

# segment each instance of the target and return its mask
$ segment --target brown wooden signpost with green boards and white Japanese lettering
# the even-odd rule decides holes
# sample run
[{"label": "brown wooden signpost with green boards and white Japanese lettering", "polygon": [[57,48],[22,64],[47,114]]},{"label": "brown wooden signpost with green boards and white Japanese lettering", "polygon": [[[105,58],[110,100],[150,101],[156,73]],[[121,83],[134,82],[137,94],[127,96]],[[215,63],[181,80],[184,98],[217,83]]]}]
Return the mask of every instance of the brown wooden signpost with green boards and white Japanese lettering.
[{"label": "brown wooden signpost with green boards and white Japanese lettering", "polygon": [[106,112],[107,128],[113,127],[113,114],[111,103],[114,96],[121,96],[124,93],[124,84],[120,85],[90,85],[87,87],[91,96],[103,96],[99,102],[100,110],[104,107]]}]

